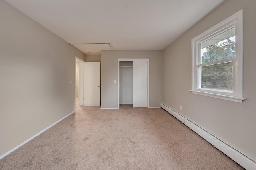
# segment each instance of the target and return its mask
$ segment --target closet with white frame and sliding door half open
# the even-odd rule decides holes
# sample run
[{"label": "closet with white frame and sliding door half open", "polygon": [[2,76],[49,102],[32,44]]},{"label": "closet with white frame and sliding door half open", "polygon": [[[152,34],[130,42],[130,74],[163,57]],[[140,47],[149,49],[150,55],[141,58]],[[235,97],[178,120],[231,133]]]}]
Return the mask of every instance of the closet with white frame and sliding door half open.
[{"label": "closet with white frame and sliding door half open", "polygon": [[[132,73],[128,69],[132,69]],[[126,93],[126,90],[132,92]],[[149,59],[118,59],[118,109],[120,104],[149,107]]]}]

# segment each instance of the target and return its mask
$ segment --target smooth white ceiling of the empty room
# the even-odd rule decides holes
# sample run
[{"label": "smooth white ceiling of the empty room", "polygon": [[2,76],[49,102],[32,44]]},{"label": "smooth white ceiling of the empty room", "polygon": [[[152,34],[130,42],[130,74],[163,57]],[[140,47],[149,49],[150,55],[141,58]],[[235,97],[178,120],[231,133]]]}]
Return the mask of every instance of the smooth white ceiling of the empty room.
[{"label": "smooth white ceiling of the empty room", "polygon": [[224,0],[6,1],[68,43],[162,50]]}]

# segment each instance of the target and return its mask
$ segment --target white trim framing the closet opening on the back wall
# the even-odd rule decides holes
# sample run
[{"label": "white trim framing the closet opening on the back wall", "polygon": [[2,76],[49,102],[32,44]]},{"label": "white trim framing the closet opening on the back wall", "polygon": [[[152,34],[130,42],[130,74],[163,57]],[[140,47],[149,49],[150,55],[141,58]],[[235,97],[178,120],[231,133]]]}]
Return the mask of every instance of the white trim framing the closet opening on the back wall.
[{"label": "white trim framing the closet opening on the back wall", "polygon": [[117,66],[118,66],[118,71],[117,71],[117,76],[118,76],[118,78],[117,78],[117,83],[118,83],[118,109],[119,109],[119,63],[120,63],[120,61],[147,61],[148,62],[148,108],[149,108],[149,59],[148,58],[144,58],[144,59],[117,59]]}]

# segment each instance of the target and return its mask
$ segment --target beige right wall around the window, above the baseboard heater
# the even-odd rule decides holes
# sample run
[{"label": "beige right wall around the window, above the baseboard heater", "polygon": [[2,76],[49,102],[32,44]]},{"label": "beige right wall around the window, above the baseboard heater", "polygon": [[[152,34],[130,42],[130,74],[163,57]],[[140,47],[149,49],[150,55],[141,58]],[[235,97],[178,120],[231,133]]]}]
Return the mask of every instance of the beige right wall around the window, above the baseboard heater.
[{"label": "beige right wall around the window, above the baseboard heater", "polygon": [[[163,51],[163,103],[256,160],[256,1],[226,0]],[[191,39],[244,8],[243,103],[191,90]],[[183,106],[183,111],[180,110]]]}]

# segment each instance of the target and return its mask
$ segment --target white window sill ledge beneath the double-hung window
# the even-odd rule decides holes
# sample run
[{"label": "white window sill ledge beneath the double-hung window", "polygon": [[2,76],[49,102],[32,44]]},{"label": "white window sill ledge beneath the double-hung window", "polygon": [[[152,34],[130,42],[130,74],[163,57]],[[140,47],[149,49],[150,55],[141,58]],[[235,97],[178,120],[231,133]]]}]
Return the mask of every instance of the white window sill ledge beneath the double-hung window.
[{"label": "white window sill ledge beneath the double-hung window", "polygon": [[229,101],[238,102],[238,103],[242,103],[243,100],[246,100],[246,98],[226,96],[226,95],[222,95],[222,94],[214,94],[214,93],[201,92],[201,91],[195,91],[195,90],[189,90],[189,91],[194,93],[194,94],[200,94],[200,95],[203,95],[203,96],[209,96],[209,97],[212,97],[212,98],[219,98],[219,99],[229,100]]}]

